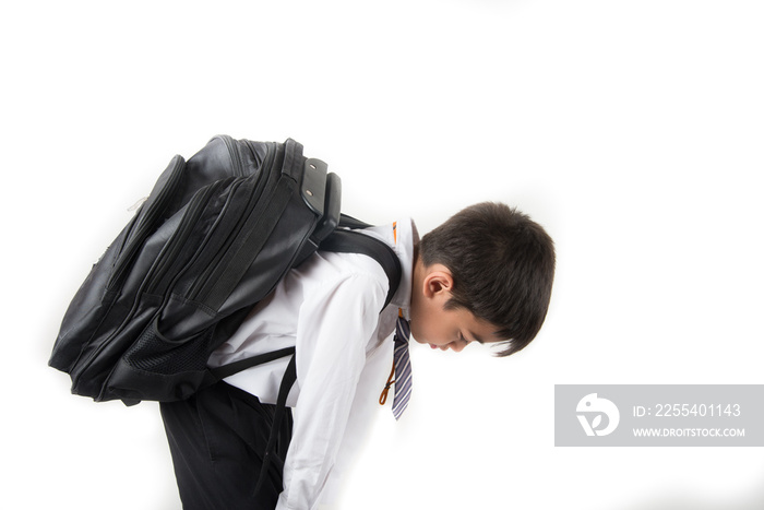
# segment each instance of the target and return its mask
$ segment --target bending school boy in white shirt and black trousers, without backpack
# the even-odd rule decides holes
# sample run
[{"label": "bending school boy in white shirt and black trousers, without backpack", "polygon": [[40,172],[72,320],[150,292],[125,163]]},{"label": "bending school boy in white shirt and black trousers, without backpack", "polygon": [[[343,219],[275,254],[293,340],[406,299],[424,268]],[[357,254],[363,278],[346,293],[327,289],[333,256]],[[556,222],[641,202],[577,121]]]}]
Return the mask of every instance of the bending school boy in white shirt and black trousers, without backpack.
[{"label": "bending school boy in white shirt and black trousers, without backpack", "polygon": [[[210,360],[220,366],[296,346],[297,383],[287,400],[295,412],[294,423],[288,417],[291,438],[287,434],[279,444],[286,451],[288,442],[283,478],[270,474],[263,490],[253,494],[287,360],[162,404],[184,509],[318,508],[329,496],[332,475],[385,400],[380,393],[390,386],[389,373],[393,378],[394,331],[403,347],[407,342],[401,336],[410,324],[411,336],[431,348],[459,352],[471,342],[500,342],[498,355],[508,356],[541,328],[554,249],[525,214],[480,203],[421,240],[410,220],[365,232],[393,247],[402,264],[402,281],[384,310],[389,282],[377,262],[319,251],[291,270]],[[407,354],[395,352],[397,364],[410,368]],[[403,402],[416,373],[395,378],[395,391],[406,392]]]}]

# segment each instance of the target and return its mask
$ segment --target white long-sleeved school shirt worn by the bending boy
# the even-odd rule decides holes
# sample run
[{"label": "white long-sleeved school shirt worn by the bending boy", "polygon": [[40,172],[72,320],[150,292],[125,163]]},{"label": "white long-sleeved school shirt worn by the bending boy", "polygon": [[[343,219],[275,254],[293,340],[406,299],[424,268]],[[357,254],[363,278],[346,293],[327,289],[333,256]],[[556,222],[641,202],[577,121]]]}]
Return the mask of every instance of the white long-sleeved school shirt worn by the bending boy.
[{"label": "white long-sleeved school shirt worn by the bending boy", "polygon": [[[210,358],[217,367],[295,346],[297,382],[293,438],[284,464],[277,510],[317,509],[326,501],[355,442],[367,428],[386,382],[398,310],[409,317],[414,246],[410,218],[365,233],[390,245],[402,278],[382,310],[389,282],[382,268],[358,253],[319,251],[293,269]],[[275,404],[288,357],[252,367],[225,381]],[[392,401],[392,399],[390,399]],[[392,414],[391,414],[392,418]]]}]

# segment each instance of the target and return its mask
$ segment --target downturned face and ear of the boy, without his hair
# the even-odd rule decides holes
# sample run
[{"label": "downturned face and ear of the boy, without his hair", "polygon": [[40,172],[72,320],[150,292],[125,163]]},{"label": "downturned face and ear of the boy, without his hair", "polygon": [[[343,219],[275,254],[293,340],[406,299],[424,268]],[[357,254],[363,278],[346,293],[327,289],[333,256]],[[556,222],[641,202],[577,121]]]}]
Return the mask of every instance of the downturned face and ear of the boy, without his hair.
[{"label": "downturned face and ear of the boy, without his hair", "polygon": [[[438,265],[438,264],[437,264]],[[444,268],[433,266],[416,277],[411,293],[411,336],[420,344],[441,351],[462,351],[471,342],[498,342],[493,324],[475,317],[464,308],[445,309],[451,298],[453,280]],[[417,282],[417,280],[419,280]],[[417,292],[419,290],[419,292]]]}]

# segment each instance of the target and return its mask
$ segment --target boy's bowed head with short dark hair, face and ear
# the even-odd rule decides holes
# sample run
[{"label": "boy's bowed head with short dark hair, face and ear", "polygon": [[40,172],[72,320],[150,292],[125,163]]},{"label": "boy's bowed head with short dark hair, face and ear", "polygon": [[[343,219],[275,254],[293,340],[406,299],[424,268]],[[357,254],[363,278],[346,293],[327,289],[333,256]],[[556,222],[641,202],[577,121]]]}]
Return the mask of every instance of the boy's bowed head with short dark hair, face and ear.
[{"label": "boy's bowed head with short dark hair, face and ear", "polygon": [[[498,355],[509,356],[536,336],[547,316],[554,246],[525,214],[485,202],[425,235],[417,268],[411,296],[416,340],[461,351],[492,334],[488,341],[506,344]],[[452,321],[454,328],[445,330]]]}]

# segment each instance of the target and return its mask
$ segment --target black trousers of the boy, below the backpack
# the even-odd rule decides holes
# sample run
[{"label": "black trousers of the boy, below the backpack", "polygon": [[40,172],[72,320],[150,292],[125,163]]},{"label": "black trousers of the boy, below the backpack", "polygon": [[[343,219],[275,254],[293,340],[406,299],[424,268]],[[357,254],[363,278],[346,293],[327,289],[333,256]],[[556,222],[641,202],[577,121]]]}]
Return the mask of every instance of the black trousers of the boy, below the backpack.
[{"label": "black trousers of the boy, below the backpack", "polygon": [[[184,510],[273,509],[283,488],[283,459],[291,438],[286,410],[275,460],[262,472],[275,405],[223,381],[181,402],[162,403],[175,476]],[[273,459],[273,456],[272,456]]]}]

